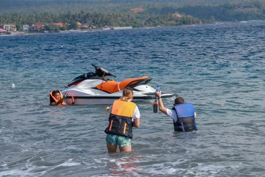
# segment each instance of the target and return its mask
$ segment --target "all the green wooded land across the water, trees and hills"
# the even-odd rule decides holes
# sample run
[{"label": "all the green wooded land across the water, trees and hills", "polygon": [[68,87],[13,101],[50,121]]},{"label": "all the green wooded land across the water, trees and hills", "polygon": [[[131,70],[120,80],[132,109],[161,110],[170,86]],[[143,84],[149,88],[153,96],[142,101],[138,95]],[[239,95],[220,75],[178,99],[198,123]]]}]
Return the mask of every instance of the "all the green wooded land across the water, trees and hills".
[{"label": "all the green wooded land across the water, trees and hills", "polygon": [[75,29],[76,22],[101,28],[265,19],[264,0],[0,0],[0,4],[0,24],[16,24],[18,30],[34,23],[62,22]]}]

